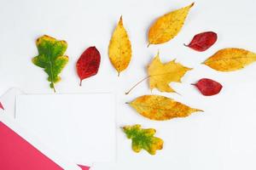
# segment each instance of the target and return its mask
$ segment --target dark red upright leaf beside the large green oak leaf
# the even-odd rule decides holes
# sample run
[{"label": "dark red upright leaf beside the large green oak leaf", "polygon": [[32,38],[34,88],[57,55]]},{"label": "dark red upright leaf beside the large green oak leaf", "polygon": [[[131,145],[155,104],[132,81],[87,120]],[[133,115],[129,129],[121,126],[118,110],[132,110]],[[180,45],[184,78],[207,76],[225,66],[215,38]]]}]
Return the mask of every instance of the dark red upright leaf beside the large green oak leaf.
[{"label": "dark red upright leaf beside the large green oak leaf", "polygon": [[80,86],[84,78],[95,76],[101,63],[101,54],[96,47],[87,48],[77,62]]}]

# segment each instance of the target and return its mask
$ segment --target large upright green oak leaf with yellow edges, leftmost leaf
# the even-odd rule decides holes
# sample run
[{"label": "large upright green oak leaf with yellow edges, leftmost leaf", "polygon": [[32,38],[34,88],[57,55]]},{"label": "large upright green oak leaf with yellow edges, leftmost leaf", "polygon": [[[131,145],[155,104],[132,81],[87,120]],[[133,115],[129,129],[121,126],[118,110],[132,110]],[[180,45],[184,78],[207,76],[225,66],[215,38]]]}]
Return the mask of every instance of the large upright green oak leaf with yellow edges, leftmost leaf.
[{"label": "large upright green oak leaf with yellow edges, leftmost leaf", "polygon": [[34,65],[44,68],[48,74],[49,87],[55,91],[55,83],[61,81],[59,74],[67,65],[68,57],[64,55],[67,42],[44,35],[37,39],[38,56],[32,59]]}]

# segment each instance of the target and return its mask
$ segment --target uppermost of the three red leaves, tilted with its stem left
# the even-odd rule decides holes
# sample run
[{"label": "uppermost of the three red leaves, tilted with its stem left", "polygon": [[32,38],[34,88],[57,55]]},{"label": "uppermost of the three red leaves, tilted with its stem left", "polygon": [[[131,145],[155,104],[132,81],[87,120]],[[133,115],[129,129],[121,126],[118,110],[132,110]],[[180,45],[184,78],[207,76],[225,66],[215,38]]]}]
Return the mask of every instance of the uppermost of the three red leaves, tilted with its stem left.
[{"label": "uppermost of the three red leaves, tilted with its stem left", "polygon": [[193,48],[195,51],[206,51],[208,48],[212,47],[212,45],[217,41],[217,34],[212,31],[202,32],[200,34],[196,34],[193,37],[192,41],[189,45],[184,44],[186,47]]}]

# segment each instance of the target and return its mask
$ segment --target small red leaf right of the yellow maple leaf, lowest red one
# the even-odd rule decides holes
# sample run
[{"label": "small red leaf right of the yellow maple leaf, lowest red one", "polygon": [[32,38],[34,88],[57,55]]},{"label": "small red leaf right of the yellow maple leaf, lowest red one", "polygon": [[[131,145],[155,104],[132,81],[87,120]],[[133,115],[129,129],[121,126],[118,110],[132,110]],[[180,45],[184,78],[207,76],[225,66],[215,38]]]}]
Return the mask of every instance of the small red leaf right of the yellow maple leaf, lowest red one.
[{"label": "small red leaf right of the yellow maple leaf, lowest red one", "polygon": [[202,78],[196,82],[196,84],[192,85],[195,85],[195,87],[201,91],[201,94],[205,96],[218,94],[222,88],[222,85],[219,82],[215,82],[209,78]]}]

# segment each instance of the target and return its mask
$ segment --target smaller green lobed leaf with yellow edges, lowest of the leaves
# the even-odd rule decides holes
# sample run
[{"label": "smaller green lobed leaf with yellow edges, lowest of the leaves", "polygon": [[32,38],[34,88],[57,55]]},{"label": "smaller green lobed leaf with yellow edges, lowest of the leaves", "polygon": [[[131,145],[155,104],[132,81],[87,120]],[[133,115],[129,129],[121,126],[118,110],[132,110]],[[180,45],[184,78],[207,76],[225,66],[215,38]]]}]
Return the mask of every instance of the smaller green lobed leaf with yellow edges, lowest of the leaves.
[{"label": "smaller green lobed leaf with yellow edges, lowest of the leaves", "polygon": [[147,150],[149,154],[155,155],[156,150],[163,148],[164,141],[154,137],[154,128],[143,129],[141,125],[122,127],[128,139],[132,140],[132,150],[140,152]]}]

